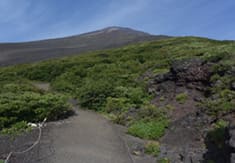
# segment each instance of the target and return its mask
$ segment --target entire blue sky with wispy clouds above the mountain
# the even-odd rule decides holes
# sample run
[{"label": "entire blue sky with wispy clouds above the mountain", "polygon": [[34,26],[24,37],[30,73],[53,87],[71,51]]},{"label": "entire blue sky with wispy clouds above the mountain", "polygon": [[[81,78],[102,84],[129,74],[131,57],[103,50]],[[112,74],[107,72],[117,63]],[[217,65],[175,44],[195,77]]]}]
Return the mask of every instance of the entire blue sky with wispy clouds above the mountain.
[{"label": "entire blue sky with wispy clouds above the mountain", "polygon": [[63,37],[108,26],[235,40],[235,1],[0,0],[0,42]]}]

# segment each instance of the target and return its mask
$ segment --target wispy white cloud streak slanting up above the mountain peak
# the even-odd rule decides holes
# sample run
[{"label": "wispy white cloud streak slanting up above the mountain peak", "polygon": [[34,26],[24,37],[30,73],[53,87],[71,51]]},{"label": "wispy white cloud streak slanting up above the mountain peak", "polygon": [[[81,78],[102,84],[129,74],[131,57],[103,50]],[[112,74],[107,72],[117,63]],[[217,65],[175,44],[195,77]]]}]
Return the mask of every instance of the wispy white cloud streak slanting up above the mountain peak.
[{"label": "wispy white cloud streak slanting up above the mountain peak", "polygon": [[74,21],[75,17],[73,15],[78,15],[78,10],[71,15],[71,18],[51,25],[49,31],[53,31],[53,33],[40,33],[34,37],[38,39],[63,37],[89,32],[107,26],[121,25],[124,22],[131,21],[131,19],[135,17],[140,17],[139,14],[147,9],[151,1],[152,0],[137,0],[135,3],[134,1],[111,1],[109,4],[106,4],[105,10],[98,11],[98,14],[94,14],[90,19]]}]

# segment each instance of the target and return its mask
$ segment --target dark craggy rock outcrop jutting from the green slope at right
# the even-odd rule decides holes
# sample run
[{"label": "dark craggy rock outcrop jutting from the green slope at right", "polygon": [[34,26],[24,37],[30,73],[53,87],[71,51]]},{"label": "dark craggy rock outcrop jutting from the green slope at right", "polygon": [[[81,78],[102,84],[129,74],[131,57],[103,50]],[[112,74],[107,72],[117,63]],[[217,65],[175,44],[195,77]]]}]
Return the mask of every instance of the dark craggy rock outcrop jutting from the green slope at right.
[{"label": "dark craggy rock outcrop jutting from the green slope at right", "polygon": [[169,73],[159,74],[149,83],[149,92],[173,91],[173,87],[186,86],[189,89],[205,91],[210,78],[210,65],[200,59],[185,59],[175,61]]}]

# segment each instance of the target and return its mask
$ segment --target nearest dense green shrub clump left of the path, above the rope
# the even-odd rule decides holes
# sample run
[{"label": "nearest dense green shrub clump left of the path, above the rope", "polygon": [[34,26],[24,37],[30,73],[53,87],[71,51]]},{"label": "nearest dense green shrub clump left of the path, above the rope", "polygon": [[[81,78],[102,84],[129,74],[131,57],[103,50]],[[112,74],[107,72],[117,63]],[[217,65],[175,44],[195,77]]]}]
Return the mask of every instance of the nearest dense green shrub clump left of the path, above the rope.
[{"label": "nearest dense green shrub clump left of the path, above the rope", "polygon": [[61,95],[33,92],[0,94],[1,129],[21,121],[57,120],[68,111],[67,99]]}]

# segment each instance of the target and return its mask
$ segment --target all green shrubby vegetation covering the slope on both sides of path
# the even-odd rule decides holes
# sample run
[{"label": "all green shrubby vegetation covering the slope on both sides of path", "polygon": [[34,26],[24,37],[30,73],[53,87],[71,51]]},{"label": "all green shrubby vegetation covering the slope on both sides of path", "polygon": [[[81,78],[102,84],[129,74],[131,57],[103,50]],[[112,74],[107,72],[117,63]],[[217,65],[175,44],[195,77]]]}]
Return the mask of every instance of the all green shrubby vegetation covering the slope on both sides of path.
[{"label": "all green shrubby vegetation covering the slope on both sides of path", "polygon": [[[220,94],[221,98],[208,98],[203,106],[209,114],[229,112],[234,109],[234,91],[228,85],[234,77],[222,72],[235,65],[234,52],[234,42],[183,37],[2,68],[0,128],[43,117],[57,119],[67,111],[66,99],[36,89],[30,84],[36,80],[49,82],[57,93],[78,99],[83,108],[105,113],[116,123],[127,125],[130,134],[158,139],[169,124],[165,114],[168,107],[151,104],[153,97],[146,90],[149,78],[169,71],[174,60],[200,57],[217,62],[211,80],[219,78],[221,85],[211,89],[210,94]],[[179,103],[185,100],[186,94],[177,96]]]}]

